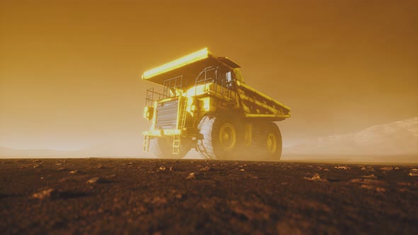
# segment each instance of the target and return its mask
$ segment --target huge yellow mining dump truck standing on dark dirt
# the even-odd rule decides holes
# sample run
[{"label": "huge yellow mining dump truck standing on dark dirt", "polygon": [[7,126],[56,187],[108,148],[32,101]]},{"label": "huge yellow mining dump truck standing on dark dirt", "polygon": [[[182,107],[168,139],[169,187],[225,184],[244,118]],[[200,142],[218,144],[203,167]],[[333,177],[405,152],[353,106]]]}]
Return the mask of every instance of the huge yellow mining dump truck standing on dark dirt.
[{"label": "huge yellow mining dump truck standing on dark dirt", "polygon": [[244,83],[239,65],[207,48],[145,71],[158,84],[147,90],[144,151],[181,159],[192,148],[205,159],[278,160],[276,121],[290,108]]}]

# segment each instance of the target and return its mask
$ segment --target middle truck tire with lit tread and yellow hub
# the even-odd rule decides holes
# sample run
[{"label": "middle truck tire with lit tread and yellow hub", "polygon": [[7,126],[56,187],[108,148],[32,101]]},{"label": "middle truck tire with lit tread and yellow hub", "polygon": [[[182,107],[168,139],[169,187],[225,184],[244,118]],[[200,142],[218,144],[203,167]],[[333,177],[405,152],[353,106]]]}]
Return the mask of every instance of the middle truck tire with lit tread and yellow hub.
[{"label": "middle truck tire with lit tread and yellow hub", "polygon": [[232,159],[242,142],[239,120],[232,115],[208,114],[198,125],[200,138],[196,144],[205,159]]}]

